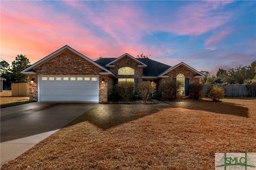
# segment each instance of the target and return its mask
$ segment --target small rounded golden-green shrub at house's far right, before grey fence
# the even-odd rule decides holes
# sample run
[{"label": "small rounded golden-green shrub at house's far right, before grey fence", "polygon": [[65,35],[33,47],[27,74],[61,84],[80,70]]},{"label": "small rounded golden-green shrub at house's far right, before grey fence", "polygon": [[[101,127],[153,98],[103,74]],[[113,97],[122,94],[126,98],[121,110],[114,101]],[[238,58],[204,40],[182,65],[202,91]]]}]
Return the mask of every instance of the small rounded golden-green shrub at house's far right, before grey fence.
[{"label": "small rounded golden-green shrub at house's far right, before grey fence", "polygon": [[207,96],[213,101],[220,101],[220,99],[224,98],[225,96],[225,90],[222,87],[213,85],[208,90]]}]

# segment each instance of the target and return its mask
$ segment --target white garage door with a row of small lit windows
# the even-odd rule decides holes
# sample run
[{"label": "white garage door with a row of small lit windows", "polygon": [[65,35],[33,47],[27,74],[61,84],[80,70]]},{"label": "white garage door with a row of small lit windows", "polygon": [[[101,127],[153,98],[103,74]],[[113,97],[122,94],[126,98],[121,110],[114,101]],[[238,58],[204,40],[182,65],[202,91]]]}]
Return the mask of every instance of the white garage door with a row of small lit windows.
[{"label": "white garage door with a row of small lit windows", "polygon": [[99,77],[38,77],[39,101],[99,101]]}]

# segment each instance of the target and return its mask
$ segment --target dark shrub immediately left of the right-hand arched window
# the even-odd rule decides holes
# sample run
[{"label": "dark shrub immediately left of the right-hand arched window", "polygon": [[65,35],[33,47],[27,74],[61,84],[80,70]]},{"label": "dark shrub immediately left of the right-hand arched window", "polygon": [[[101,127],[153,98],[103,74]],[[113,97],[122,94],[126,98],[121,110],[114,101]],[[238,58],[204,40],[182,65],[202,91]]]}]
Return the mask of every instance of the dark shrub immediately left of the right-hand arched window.
[{"label": "dark shrub immediately left of the right-hand arched window", "polygon": [[165,100],[175,100],[177,95],[175,82],[163,82],[161,84],[161,96]]}]

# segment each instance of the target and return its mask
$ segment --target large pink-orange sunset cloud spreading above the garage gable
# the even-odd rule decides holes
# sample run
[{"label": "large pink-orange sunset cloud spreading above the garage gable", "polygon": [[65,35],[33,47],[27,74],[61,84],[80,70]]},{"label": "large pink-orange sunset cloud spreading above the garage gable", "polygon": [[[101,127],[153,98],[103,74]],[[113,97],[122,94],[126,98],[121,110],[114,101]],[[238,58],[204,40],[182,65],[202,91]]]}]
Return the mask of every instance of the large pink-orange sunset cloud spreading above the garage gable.
[{"label": "large pink-orange sunset cloud spreading above the garage gable", "polygon": [[[17,5],[21,11],[31,10],[20,13],[15,10]],[[73,6],[77,7],[74,4]],[[53,9],[48,8],[46,11],[46,8],[36,4],[10,3],[1,10],[1,58],[9,62],[14,60],[17,54],[25,54],[30,62],[34,63],[64,45],[75,48],[92,60],[100,55],[116,57],[123,53],[131,53],[134,56],[141,52],[156,54],[146,45],[138,44],[139,33],[133,35],[135,28],[129,28],[132,22],[129,19],[134,17],[134,14],[131,14],[134,11],[121,13],[124,7],[120,9],[116,7],[116,11],[110,16],[104,16],[102,13],[97,17],[89,8],[86,9],[86,14],[90,13],[90,15],[85,16],[92,20],[94,27],[100,27],[107,32],[108,36],[105,37],[99,37],[90,29],[81,27],[70,15],[55,15]],[[106,12],[110,13],[111,10],[107,9]],[[116,13],[121,14],[115,16]],[[111,18],[111,16],[115,17]],[[108,20],[111,22],[105,23]],[[118,32],[118,29],[121,31]]]}]

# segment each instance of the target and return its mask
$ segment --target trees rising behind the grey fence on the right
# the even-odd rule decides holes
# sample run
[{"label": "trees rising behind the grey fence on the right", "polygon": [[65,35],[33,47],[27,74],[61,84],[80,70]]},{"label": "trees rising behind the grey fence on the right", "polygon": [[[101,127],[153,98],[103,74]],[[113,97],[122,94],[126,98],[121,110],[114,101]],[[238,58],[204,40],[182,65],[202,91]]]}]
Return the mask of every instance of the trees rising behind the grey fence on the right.
[{"label": "trees rising behind the grey fence on the right", "polygon": [[221,69],[216,75],[210,75],[207,71],[201,71],[205,75],[205,84],[256,84],[256,60],[250,65],[239,65],[235,68]]}]

